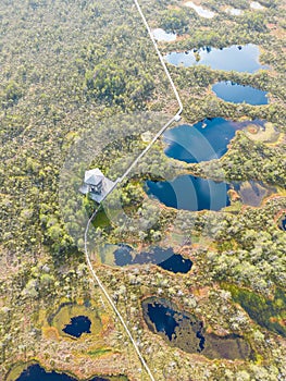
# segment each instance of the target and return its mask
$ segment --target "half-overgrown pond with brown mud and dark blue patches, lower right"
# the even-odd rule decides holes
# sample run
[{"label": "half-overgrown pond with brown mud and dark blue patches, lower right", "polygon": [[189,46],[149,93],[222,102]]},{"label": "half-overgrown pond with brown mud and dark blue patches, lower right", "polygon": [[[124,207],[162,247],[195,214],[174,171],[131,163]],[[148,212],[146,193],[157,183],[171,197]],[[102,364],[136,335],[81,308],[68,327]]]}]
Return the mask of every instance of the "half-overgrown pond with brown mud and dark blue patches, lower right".
[{"label": "half-overgrown pond with brown mud and dark blue patches, lower right", "polygon": [[160,334],[171,346],[188,353],[201,353],[209,358],[246,359],[251,348],[243,336],[217,336],[207,333],[195,315],[178,310],[171,302],[149,297],[142,302],[144,319],[153,333]]}]

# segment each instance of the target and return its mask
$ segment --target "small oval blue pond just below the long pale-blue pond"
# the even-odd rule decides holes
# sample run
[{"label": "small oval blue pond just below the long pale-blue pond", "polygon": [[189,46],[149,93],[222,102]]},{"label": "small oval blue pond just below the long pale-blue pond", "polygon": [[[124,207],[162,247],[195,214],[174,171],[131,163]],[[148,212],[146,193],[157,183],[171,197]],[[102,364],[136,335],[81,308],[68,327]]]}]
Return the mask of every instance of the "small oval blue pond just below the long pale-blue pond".
[{"label": "small oval blue pond just below the long pale-blue pond", "polygon": [[249,105],[268,105],[268,91],[259,90],[251,86],[243,86],[232,83],[231,81],[219,82],[212,86],[216,96],[227,102],[249,103]]}]

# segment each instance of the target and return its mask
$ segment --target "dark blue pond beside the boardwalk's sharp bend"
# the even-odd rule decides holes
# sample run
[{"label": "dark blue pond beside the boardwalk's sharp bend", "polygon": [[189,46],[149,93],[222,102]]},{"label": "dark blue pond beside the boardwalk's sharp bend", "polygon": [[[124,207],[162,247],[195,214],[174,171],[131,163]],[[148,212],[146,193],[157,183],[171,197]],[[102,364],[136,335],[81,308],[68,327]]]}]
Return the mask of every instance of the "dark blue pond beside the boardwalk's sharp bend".
[{"label": "dark blue pond beside the boardwalk's sharp bend", "polygon": [[[251,122],[252,123],[252,122]],[[183,124],[164,133],[165,155],[186,162],[221,158],[227,145],[245,123],[223,118],[204,119],[194,125]]]}]

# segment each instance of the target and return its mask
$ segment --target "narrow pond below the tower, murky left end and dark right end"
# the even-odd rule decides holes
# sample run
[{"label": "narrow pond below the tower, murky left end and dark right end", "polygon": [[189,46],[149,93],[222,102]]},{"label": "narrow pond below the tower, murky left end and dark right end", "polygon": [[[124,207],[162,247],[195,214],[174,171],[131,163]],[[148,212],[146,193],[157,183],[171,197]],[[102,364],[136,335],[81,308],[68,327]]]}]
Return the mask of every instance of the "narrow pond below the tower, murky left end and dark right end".
[{"label": "narrow pond below the tower, murky left end and dark right end", "polygon": [[116,266],[154,263],[174,273],[187,273],[192,266],[190,259],[175,254],[172,248],[164,249],[159,246],[149,251],[135,253],[130,246],[120,245],[114,251],[114,258]]}]

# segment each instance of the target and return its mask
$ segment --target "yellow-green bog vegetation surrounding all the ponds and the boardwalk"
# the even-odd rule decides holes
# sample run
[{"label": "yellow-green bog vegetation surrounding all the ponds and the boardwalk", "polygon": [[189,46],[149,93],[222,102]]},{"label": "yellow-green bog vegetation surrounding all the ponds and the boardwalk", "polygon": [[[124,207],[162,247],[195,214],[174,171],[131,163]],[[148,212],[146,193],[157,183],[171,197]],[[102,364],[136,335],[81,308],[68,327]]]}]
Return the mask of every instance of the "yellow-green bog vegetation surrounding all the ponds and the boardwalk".
[{"label": "yellow-green bog vegetation surrounding all the ponds and the boardwalk", "polygon": [[[136,249],[172,246],[194,261],[191,272],[182,276],[153,265],[126,271],[96,261],[95,267],[158,380],[283,380],[286,253],[278,219],[286,209],[285,7],[279,0],[260,0],[263,11],[250,10],[248,0],[201,3],[215,17],[199,17],[178,1],[140,1],[152,27],[179,34],[176,41],[160,42],[161,51],[251,42],[260,46],[260,60],[271,70],[251,75],[170,65],[184,102],[183,122],[262,119],[272,123],[278,138],[273,134],[271,142],[256,140],[240,132],[219,161],[192,165],[166,158],[164,143],[159,142],[114,193],[133,219],[112,223],[102,211],[90,241],[99,246],[125,242]],[[226,14],[226,5],[245,13]],[[174,95],[132,0],[7,0],[0,3],[0,379],[13,365],[23,368],[32,360],[47,369],[69,369],[78,379],[102,369],[104,374],[138,379],[139,360],[90,281],[82,248],[95,205],[78,194],[78,187],[88,167],[99,167],[112,180],[122,175],[146,147],[141,133],[153,135],[177,110]],[[217,81],[266,90],[270,103],[224,102],[211,91]],[[145,116],[148,113],[153,119]],[[60,205],[59,184],[70,148],[90,132],[98,134],[102,150],[96,151],[90,138],[85,146],[94,152],[89,161],[77,163],[74,158],[75,171],[64,185],[67,195],[72,189],[77,198]],[[261,181],[277,192],[256,208],[238,198],[224,211],[197,213],[164,208],[142,189],[146,179],[189,172],[214,180]],[[199,355],[196,361],[184,352],[177,356],[142,321],[140,300],[159,294],[199,316],[208,332],[244,334],[257,358],[210,364]],[[69,322],[67,311],[55,318],[57,329],[47,320],[59,306],[86,308],[86,300],[91,307],[85,312],[96,310],[102,324],[94,342],[59,334]],[[14,380],[16,373],[10,374]]]}]

